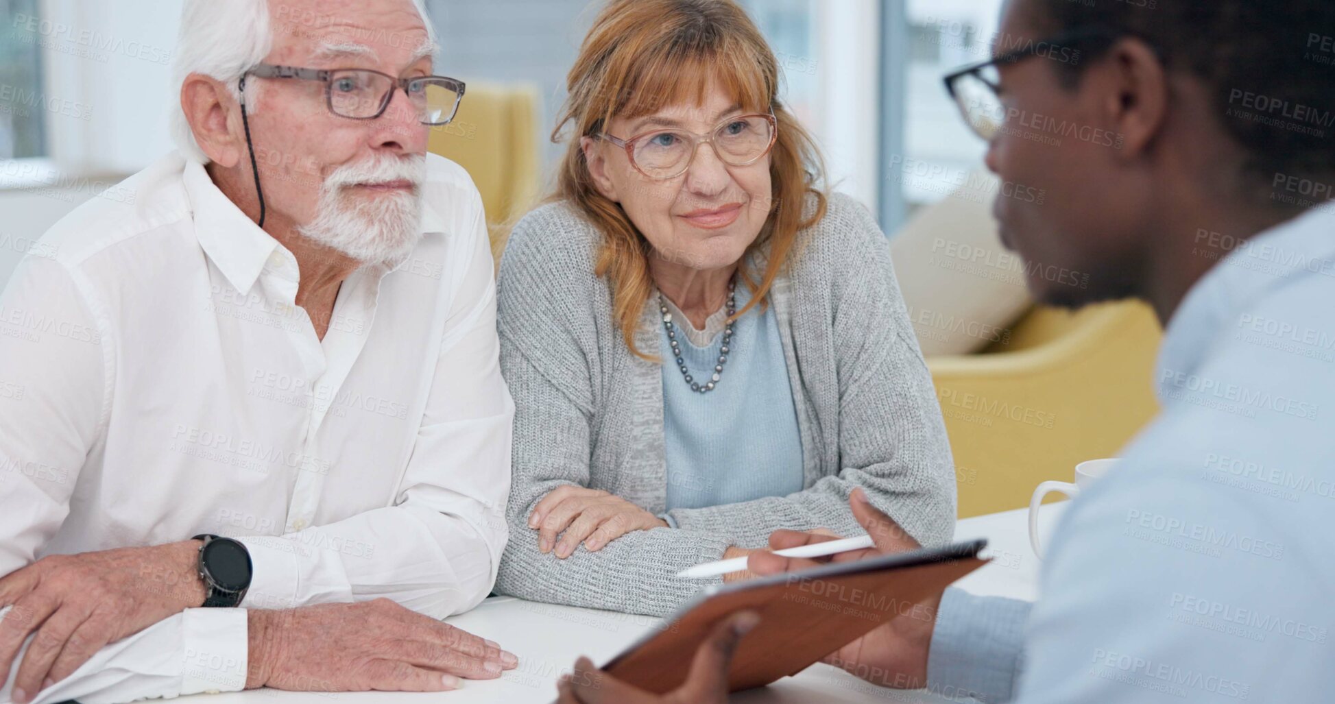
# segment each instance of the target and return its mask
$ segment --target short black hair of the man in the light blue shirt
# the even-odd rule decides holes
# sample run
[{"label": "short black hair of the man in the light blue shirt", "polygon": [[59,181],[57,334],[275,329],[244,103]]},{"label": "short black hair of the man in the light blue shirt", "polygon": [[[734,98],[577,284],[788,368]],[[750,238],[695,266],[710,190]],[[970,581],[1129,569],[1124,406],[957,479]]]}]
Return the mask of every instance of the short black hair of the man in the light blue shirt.
[{"label": "short black hair of the man in the light blue shirt", "polygon": [[[1155,48],[1169,69],[1208,85],[1248,170],[1335,172],[1335,0],[1028,0],[1044,29],[1105,28]],[[1069,84],[1112,45],[1093,41],[1063,64]]]}]

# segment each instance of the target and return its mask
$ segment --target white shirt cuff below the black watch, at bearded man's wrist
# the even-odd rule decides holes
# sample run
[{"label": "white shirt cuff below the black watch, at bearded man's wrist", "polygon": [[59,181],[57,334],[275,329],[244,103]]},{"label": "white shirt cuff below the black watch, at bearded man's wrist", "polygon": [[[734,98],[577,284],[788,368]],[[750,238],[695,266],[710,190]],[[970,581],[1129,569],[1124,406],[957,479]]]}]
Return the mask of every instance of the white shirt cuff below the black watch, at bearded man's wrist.
[{"label": "white shirt cuff below the black watch, at bearded man's wrist", "polygon": [[250,656],[246,609],[186,609],[182,641],[182,695],[246,689]]}]

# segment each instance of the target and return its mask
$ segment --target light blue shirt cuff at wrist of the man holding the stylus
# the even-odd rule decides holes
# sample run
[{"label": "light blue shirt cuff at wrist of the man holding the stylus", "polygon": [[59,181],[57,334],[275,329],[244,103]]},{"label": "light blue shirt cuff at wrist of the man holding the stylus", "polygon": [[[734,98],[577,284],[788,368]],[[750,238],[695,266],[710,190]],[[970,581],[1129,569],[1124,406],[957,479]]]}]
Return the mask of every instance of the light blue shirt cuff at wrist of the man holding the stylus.
[{"label": "light blue shirt cuff at wrist of the man holding the stylus", "polygon": [[928,689],[988,704],[1009,701],[1032,606],[1029,601],[947,589],[928,652]]}]

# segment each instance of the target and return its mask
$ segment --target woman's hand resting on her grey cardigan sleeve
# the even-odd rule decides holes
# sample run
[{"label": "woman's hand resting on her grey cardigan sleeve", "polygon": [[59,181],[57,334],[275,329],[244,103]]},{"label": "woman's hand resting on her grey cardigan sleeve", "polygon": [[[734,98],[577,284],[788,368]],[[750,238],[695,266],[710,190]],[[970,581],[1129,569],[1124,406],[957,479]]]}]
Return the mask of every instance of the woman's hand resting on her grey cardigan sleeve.
[{"label": "woman's hand resting on her grey cardigan sleeve", "polygon": [[565,560],[581,542],[589,552],[598,552],[631,530],[668,528],[668,522],[607,492],[558,486],[534,506],[529,528],[538,530],[539,550],[549,553],[555,546],[557,557]]}]

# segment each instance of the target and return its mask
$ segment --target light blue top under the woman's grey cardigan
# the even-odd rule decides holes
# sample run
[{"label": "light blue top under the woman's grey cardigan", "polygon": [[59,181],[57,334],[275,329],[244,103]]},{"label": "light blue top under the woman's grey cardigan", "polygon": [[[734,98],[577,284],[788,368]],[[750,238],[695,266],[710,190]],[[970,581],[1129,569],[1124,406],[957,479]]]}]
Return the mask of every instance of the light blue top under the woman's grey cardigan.
[{"label": "light blue top under the woman's grey cardigan", "polygon": [[[666,299],[665,299],[666,301]],[[750,294],[737,286],[737,310]],[[669,302],[670,306],[670,302]],[[712,318],[721,327],[726,311]],[[697,347],[690,321],[673,317],[677,342],[696,383],[713,378],[724,334]],[[774,307],[746,311],[733,325],[728,362],[714,390],[692,391],[676,363],[668,330],[659,325],[663,357],[663,441],[668,460],[668,509],[702,509],[802,490],[802,441],[784,361]],[[697,341],[700,337],[696,335]],[[700,341],[704,342],[704,341]],[[672,522],[672,518],[665,514]]]}]

